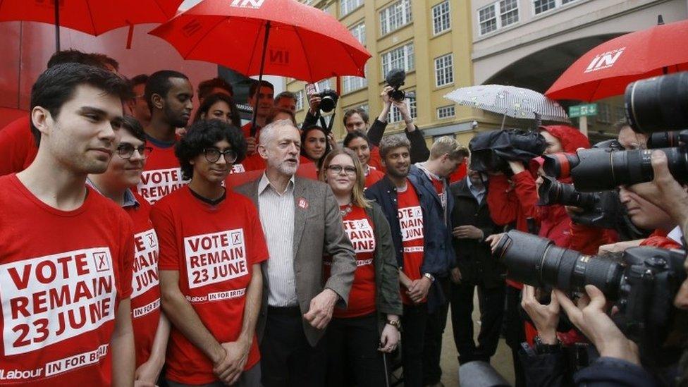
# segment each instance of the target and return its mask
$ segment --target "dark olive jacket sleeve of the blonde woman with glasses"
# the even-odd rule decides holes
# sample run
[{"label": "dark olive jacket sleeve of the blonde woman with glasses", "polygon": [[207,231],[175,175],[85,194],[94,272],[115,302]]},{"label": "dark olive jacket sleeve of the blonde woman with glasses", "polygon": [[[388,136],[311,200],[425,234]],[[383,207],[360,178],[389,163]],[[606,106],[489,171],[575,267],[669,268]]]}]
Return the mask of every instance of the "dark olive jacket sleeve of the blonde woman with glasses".
[{"label": "dark olive jacket sleeve of the blonde woman with glasses", "polygon": [[394,253],[394,244],[389,228],[379,204],[371,202],[366,214],[371,220],[375,235],[375,306],[379,320],[379,331],[385,326],[387,314],[401,316],[403,305],[399,294],[399,266]]}]

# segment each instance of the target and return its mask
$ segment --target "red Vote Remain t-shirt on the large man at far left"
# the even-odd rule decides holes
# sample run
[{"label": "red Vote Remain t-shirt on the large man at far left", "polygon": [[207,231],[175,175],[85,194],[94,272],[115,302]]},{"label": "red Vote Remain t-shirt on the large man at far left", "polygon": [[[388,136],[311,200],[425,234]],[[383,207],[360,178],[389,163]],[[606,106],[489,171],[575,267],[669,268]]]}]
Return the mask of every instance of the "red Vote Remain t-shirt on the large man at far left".
[{"label": "red Vote Remain t-shirt on the large man at far left", "polygon": [[92,188],[61,211],[0,178],[0,384],[109,386],[132,258],[131,219]]}]

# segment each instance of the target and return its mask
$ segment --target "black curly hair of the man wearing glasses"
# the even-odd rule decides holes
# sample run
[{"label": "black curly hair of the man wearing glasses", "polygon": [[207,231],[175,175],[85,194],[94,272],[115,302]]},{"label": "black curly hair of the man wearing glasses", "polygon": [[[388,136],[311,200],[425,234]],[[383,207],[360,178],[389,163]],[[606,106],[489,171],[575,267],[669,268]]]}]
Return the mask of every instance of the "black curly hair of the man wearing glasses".
[{"label": "black curly hair of the man wearing glasses", "polygon": [[174,148],[185,180],[193,177],[191,160],[222,140],[229,142],[237,154],[235,163],[240,163],[246,156],[246,140],[241,130],[220,120],[200,120],[191,125]]}]

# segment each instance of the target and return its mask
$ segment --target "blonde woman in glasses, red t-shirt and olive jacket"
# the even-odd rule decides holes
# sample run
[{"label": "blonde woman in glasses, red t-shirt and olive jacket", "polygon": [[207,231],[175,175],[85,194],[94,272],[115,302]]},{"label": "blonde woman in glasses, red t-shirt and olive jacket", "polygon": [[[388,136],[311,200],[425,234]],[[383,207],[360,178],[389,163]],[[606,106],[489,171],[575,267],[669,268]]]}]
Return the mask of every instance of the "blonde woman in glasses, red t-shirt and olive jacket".
[{"label": "blonde woman in glasses, red t-shirt and olive jacket", "polygon": [[[339,203],[357,260],[347,309],[334,310],[326,332],[327,385],[385,386],[383,354],[398,346],[403,311],[390,228],[380,207],[364,198],[365,175],[350,149],[325,156],[320,180]],[[324,257],[325,278],[330,262]]]}]

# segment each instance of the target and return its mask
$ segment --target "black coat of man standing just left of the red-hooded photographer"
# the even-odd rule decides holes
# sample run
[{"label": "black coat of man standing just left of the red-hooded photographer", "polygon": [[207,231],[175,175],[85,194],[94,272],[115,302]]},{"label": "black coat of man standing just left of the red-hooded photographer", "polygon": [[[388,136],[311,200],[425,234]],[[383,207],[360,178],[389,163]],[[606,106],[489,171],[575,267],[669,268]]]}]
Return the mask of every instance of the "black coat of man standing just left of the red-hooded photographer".
[{"label": "black coat of man standing just left of the red-hooded photographer", "polygon": [[500,233],[490,217],[487,207],[487,192],[478,203],[468,188],[467,179],[450,185],[451,196],[454,198],[454,209],[451,212],[452,226],[475,226],[483,232],[482,240],[453,238],[456,263],[461,271],[462,282],[482,283],[485,288],[504,286],[503,274],[505,267],[493,259],[490,246],[484,238]]}]

